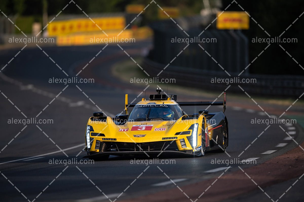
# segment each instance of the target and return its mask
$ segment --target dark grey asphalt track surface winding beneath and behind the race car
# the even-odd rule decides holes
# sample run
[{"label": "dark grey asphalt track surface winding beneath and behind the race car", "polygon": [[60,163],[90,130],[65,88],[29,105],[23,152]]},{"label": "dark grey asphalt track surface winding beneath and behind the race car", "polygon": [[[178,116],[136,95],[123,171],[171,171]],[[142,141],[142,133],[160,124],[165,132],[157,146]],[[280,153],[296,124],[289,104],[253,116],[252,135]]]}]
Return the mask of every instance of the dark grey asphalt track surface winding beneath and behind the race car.
[{"label": "dark grey asphalt track surface winding beneath and behind the race car", "polygon": [[[149,45],[149,42],[140,42],[121,47],[134,58]],[[119,201],[175,187],[170,179],[180,187],[191,186],[197,181],[219,176],[229,166],[226,172],[239,169],[238,164],[212,164],[215,159],[257,158],[259,164],[297,146],[294,141],[286,139],[288,136],[278,126],[250,124],[253,118],[265,118],[267,115],[263,111],[230,107],[228,100],[225,112],[229,121],[227,154],[210,152],[196,158],[173,156],[170,159],[175,164],[131,164],[133,157],[114,156],[110,156],[109,161],[95,161],[94,164],[50,164],[53,159],[77,158],[80,161],[86,154],[81,150],[85,142],[85,124],[92,112],[101,108],[108,115],[118,114],[123,110],[124,94],[129,94],[130,101],[134,98],[139,101],[144,88],[125,84],[112,77],[113,64],[131,60],[117,45],[105,48],[104,45],[41,48],[26,47],[17,56],[20,49],[1,51],[0,54],[0,67],[8,64],[1,71],[0,79],[0,201]],[[87,63],[89,65],[86,66]],[[82,68],[78,78],[93,77],[95,84],[77,84],[76,87],[76,84],[67,86],[63,83],[49,83],[53,77],[75,76]],[[147,88],[146,94],[154,93],[155,87],[151,85]],[[140,93],[141,96],[137,98]],[[206,101],[204,97],[191,99]],[[186,101],[189,98],[178,95],[178,100]],[[252,101],[248,98],[248,102]],[[192,114],[199,108],[184,109]],[[209,110],[220,111],[221,108],[213,107]],[[8,119],[24,119],[25,116],[33,118],[37,115],[39,119],[53,119],[54,123],[8,123]],[[291,131],[296,141],[302,141],[297,126],[282,124],[282,127]],[[277,147],[280,143],[284,146]],[[267,152],[270,150],[275,151]],[[270,154],[262,154],[264,152]],[[169,158],[160,156],[161,159]],[[241,165],[249,166],[254,165]],[[284,186],[281,189],[279,187],[277,185],[274,194],[285,189]],[[295,192],[297,190],[299,188],[295,188]],[[263,193],[257,190],[256,195],[251,193],[233,201],[255,201],[257,196],[263,196]],[[269,201],[264,196],[257,198]],[[280,201],[287,200],[288,194]],[[189,200],[185,197],[185,201]]]}]

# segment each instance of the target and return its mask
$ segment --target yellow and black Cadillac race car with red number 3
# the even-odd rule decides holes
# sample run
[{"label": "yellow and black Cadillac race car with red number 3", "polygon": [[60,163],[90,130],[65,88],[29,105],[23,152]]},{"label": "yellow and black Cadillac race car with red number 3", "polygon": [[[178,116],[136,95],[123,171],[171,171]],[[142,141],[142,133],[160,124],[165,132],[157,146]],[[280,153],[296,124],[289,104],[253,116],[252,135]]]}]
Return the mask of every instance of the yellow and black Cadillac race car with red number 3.
[{"label": "yellow and black Cadillac race car with red number 3", "polygon": [[[85,157],[106,160],[109,155],[125,154],[204,156],[206,151],[226,151],[226,92],[223,102],[177,102],[175,94],[161,94],[161,89],[157,93],[137,104],[129,104],[126,94],[125,114],[106,117],[94,112],[86,126]],[[181,109],[209,105],[223,105],[223,112],[199,110],[188,115]],[[133,108],[130,114],[129,108]]]}]

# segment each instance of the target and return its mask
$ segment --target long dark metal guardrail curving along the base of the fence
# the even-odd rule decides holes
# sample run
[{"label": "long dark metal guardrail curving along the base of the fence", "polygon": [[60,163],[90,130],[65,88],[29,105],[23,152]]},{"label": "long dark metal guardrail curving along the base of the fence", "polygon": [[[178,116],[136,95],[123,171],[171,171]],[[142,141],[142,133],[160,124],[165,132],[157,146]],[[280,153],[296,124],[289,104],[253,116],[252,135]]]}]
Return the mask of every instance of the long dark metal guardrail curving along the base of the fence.
[{"label": "long dark metal guardrail curving along the base of the fence", "polygon": [[[161,64],[145,58],[142,67],[151,77],[175,78],[176,83],[182,86],[195,87],[202,90],[225,90],[229,85],[229,91],[242,92],[241,86],[248,94],[288,96],[298,98],[304,92],[303,76],[286,75],[254,75],[231,73],[227,75],[224,71],[206,71],[196,68],[185,68],[180,66]],[[161,72],[163,70],[163,72]],[[161,72],[161,74],[159,74]],[[159,74],[159,75],[158,75]],[[157,76],[158,75],[158,76]],[[212,83],[212,79],[255,79],[255,83]]]}]

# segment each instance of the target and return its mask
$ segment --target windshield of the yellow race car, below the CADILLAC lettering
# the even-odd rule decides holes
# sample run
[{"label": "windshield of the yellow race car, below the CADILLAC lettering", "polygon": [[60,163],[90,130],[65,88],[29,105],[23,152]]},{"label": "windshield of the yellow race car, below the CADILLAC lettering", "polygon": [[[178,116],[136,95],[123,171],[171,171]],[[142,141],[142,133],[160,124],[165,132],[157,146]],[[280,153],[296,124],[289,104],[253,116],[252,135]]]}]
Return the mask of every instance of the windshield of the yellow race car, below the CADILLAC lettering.
[{"label": "windshield of the yellow race car, below the CADILLAC lettering", "polygon": [[137,104],[128,121],[171,121],[182,116],[178,104]]}]

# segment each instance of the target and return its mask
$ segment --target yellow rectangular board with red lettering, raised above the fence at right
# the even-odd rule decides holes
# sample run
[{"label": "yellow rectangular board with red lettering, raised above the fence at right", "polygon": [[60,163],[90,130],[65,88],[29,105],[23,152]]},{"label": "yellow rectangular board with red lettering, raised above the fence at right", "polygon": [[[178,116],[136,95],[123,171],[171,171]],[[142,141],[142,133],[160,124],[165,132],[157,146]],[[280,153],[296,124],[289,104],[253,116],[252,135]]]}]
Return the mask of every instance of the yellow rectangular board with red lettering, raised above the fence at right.
[{"label": "yellow rectangular board with red lettering, raised above the fence at right", "polygon": [[245,12],[225,11],[217,13],[218,29],[249,29],[249,16]]}]

